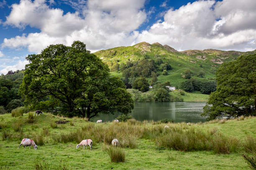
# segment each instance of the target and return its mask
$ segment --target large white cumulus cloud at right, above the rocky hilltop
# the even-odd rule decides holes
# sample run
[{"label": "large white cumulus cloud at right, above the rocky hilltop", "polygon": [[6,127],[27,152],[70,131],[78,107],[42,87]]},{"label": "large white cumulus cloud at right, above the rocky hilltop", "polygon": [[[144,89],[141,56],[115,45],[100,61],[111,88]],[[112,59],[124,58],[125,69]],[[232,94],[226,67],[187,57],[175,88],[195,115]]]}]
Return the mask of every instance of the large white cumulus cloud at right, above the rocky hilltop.
[{"label": "large white cumulus cloud at right, above the rocky hilltop", "polygon": [[136,42],[160,42],[177,50],[256,49],[256,1],[196,1],[169,9],[164,21],[138,35]]}]

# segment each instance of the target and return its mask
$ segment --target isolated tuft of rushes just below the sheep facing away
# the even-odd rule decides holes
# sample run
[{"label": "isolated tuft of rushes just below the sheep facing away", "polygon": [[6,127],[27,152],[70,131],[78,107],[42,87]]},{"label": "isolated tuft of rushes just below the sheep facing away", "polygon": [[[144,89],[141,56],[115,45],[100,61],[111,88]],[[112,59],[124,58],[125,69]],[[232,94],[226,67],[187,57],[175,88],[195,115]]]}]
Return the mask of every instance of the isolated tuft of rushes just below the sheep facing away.
[{"label": "isolated tuft of rushes just below the sheep facing away", "polygon": [[122,148],[110,146],[107,152],[111,162],[119,163],[125,161],[125,152]]}]

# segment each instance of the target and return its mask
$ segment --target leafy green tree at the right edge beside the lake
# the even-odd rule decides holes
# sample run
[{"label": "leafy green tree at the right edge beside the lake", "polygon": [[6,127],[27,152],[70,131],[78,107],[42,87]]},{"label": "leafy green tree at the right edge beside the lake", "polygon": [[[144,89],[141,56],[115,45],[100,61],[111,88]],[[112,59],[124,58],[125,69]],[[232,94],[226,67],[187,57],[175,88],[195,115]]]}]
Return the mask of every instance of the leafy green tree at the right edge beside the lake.
[{"label": "leafy green tree at the right edge beside the lake", "polygon": [[[204,107],[208,120],[253,115],[256,109],[256,54],[223,63],[216,72],[217,90]],[[212,107],[210,107],[212,105]]]}]

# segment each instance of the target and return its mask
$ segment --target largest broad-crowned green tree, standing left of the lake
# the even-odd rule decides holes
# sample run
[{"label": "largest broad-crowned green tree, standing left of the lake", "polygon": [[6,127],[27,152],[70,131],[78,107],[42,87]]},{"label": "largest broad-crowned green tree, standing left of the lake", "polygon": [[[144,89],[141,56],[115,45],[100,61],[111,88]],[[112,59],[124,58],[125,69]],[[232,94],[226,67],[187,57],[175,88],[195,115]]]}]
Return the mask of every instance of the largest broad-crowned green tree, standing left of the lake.
[{"label": "largest broad-crowned green tree, standing left of the lake", "polygon": [[19,93],[26,96],[25,105],[47,102],[67,116],[90,118],[99,113],[130,113],[133,100],[118,77],[110,77],[108,66],[86,50],[83,42],[71,47],[49,45],[40,54],[28,55],[29,64]]}]

